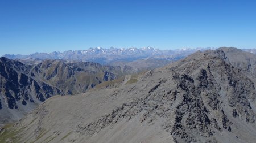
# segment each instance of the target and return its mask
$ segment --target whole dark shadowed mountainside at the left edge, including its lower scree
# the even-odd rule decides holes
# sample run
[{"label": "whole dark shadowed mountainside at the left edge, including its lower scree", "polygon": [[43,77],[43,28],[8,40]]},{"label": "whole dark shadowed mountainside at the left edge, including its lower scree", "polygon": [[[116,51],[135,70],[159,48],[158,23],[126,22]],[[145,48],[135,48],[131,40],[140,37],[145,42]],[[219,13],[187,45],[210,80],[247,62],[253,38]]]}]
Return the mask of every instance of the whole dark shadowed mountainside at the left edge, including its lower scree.
[{"label": "whole dark shadowed mountainside at the left edge, including its lower scree", "polygon": [[17,120],[52,95],[63,94],[15,60],[0,58],[0,123]]}]

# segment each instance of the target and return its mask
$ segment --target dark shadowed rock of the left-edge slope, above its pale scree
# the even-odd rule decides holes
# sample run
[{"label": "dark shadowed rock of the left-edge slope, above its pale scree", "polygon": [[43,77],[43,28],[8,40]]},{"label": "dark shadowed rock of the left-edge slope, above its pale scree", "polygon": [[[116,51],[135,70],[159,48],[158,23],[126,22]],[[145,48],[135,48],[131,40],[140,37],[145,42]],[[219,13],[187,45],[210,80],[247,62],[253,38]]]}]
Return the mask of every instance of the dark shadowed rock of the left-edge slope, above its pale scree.
[{"label": "dark shadowed rock of the left-edge slope, above its pale scree", "polygon": [[18,108],[17,102],[26,105],[26,101],[34,97],[42,102],[52,95],[61,94],[59,89],[30,76],[30,68],[20,62],[2,57],[0,67],[0,92],[10,109]]}]

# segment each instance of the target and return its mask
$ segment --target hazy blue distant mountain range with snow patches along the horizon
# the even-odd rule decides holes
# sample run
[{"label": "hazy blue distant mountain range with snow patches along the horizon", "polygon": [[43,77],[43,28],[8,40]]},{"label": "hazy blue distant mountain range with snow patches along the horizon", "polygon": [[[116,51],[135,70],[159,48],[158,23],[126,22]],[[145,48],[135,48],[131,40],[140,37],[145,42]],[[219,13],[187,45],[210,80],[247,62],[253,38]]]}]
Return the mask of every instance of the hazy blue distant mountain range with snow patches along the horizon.
[{"label": "hazy blue distant mountain range with snow patches along the horizon", "polygon": [[[158,60],[177,60],[195,53],[197,50],[207,50],[212,48],[197,49],[179,49],[179,50],[159,50],[153,47],[137,48],[121,48],[110,47],[104,49],[102,47],[90,48],[88,50],[68,50],[63,53],[54,51],[52,53],[34,53],[30,55],[10,55],[3,57],[10,59],[63,59],[63,60],[79,60],[82,62],[96,62],[100,64],[112,64],[116,62],[131,62],[140,59],[158,59]],[[213,50],[213,49],[212,49]]]}]

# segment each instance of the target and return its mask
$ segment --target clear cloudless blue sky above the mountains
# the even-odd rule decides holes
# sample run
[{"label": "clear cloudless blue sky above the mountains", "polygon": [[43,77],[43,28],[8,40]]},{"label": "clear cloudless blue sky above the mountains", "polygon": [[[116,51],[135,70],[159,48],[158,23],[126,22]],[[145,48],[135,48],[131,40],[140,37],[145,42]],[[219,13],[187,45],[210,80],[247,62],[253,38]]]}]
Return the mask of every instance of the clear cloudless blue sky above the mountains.
[{"label": "clear cloudless blue sky above the mountains", "polygon": [[0,0],[0,55],[89,47],[256,47],[256,1]]}]

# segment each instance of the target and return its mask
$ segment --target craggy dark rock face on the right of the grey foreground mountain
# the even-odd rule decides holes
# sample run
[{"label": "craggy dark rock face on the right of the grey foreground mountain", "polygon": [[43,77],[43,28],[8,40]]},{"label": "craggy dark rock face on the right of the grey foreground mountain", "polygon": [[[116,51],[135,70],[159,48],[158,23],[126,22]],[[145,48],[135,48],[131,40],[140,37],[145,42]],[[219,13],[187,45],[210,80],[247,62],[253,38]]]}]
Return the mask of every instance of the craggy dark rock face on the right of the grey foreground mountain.
[{"label": "craggy dark rock face on the right of the grey foreground mountain", "polygon": [[[255,106],[256,96],[255,83],[250,80],[253,72],[249,70],[250,73],[247,72],[249,74],[247,75],[242,72],[243,69],[239,70],[240,67],[233,67],[227,61],[228,58],[222,52],[223,50],[226,49],[199,54],[200,60],[196,60],[199,55],[194,54],[184,59],[189,60],[190,64],[177,62],[172,67],[174,71],[185,71],[184,73],[190,73],[189,75],[194,77],[195,72],[192,70],[199,71],[195,84],[192,80],[184,81],[182,77],[175,78],[175,80],[181,79],[177,88],[187,92],[183,96],[183,103],[177,106],[176,125],[172,130],[172,135],[177,137],[177,142],[199,141],[191,132],[203,133],[204,137],[214,136],[215,129],[220,132],[224,130],[232,132],[232,128],[237,126],[231,120],[238,116],[243,122],[255,123],[255,111],[250,105],[253,103]],[[242,51],[240,53],[243,54]],[[205,68],[200,70],[199,68],[204,67],[204,64]],[[218,112],[218,114],[214,115],[212,112]]]}]

